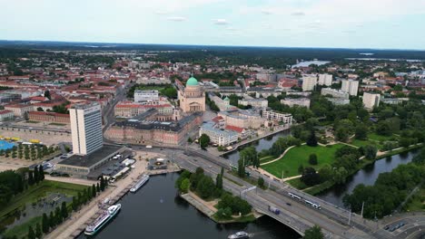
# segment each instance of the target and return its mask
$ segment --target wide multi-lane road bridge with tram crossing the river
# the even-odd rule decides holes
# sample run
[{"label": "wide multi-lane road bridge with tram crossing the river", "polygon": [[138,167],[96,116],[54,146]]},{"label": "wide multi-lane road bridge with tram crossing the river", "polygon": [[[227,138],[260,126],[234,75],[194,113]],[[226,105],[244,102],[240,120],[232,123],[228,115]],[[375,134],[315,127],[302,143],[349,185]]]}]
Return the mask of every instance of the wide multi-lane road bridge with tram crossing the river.
[{"label": "wide multi-lane road bridge with tram crossing the river", "polygon": [[[169,158],[189,171],[194,172],[196,167],[203,167],[206,175],[213,178],[220,173],[221,168],[230,168],[229,160],[214,156],[207,151],[193,148],[174,148],[168,152]],[[263,177],[266,185],[272,190],[262,190],[252,187],[252,184],[235,177],[232,174],[225,173],[223,177],[223,187],[232,192],[233,195],[239,195],[245,199],[252,207],[263,215],[269,215],[284,225],[291,227],[299,234],[313,225],[319,225],[322,228],[326,238],[420,238],[415,237],[421,230],[425,231],[425,215],[418,215],[415,224],[409,227],[410,233],[396,230],[390,233],[382,229],[380,221],[371,221],[364,219],[361,215],[353,214],[344,208],[334,206],[315,196],[310,196],[302,191],[289,186],[286,183],[277,182],[269,177],[262,176],[259,172],[251,170],[253,179]],[[302,200],[293,198],[289,193],[301,196]],[[314,208],[304,203],[309,200],[321,205],[321,209]],[[269,206],[278,208],[281,213],[276,215],[269,210]]]}]

